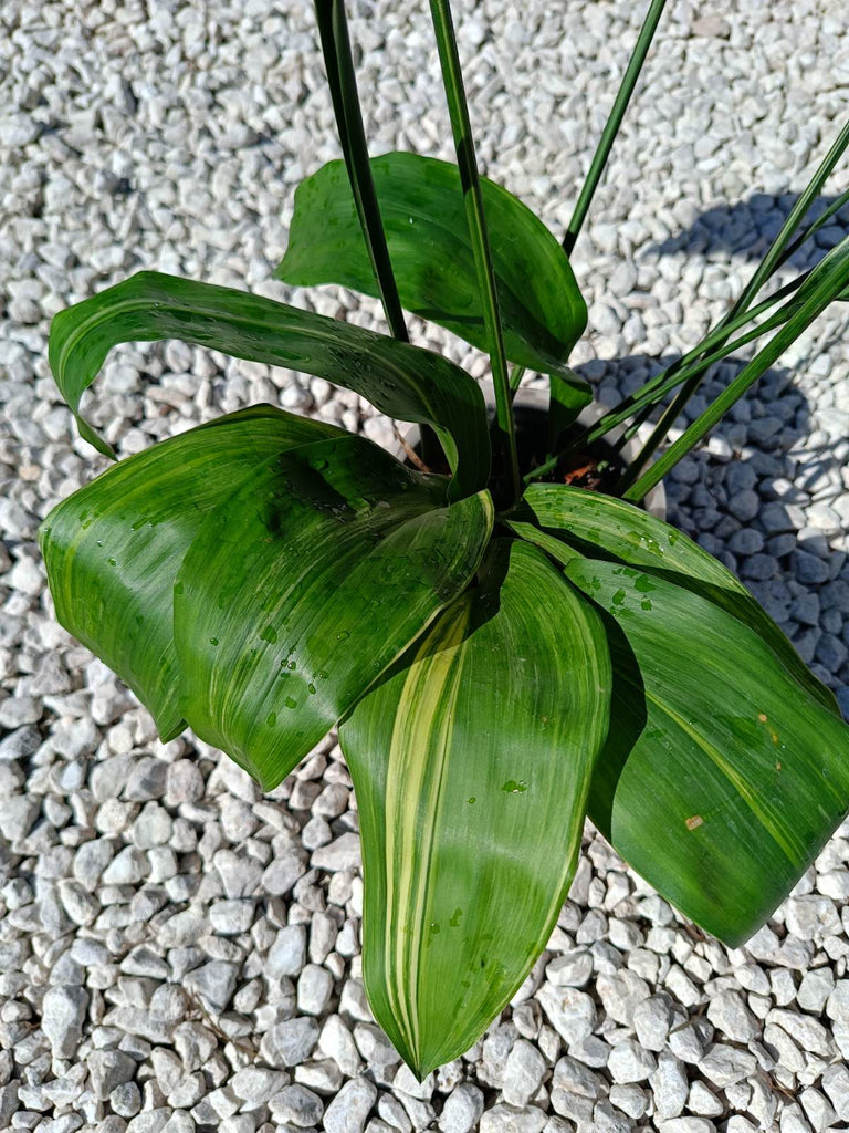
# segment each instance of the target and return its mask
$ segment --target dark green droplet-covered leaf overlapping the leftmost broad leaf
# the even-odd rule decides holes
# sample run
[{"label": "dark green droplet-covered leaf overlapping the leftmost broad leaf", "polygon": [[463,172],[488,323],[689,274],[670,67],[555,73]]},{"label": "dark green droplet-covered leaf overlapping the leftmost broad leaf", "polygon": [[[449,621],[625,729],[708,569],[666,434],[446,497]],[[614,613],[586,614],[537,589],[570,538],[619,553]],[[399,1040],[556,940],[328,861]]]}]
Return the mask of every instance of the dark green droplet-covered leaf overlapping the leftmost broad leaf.
[{"label": "dark green droplet-covered leaf overlapping the leftmost broad leaf", "polygon": [[174,587],[182,712],[271,790],[469,583],[487,492],[361,437],[266,460],[206,519]]}]

